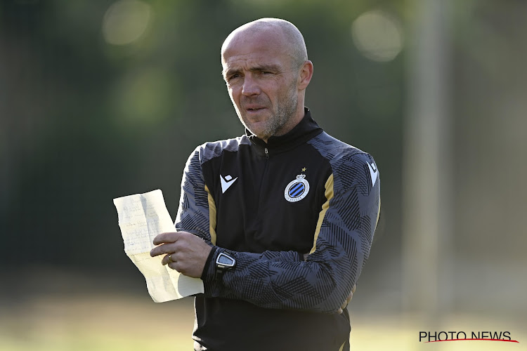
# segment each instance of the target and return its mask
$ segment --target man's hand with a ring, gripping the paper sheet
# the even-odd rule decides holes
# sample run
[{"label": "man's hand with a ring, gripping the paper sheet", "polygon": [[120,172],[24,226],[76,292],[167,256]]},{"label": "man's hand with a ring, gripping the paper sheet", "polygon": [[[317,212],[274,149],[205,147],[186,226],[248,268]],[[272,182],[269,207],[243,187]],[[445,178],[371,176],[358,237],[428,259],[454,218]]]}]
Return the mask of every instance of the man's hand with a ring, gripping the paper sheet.
[{"label": "man's hand with a ring, gripping the paper sheet", "polygon": [[[189,232],[168,232],[157,235],[150,256],[164,253],[161,263],[188,277],[200,278],[212,248],[203,239]],[[170,256],[170,258],[169,258]]]}]

